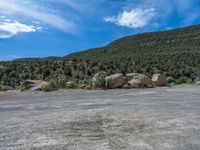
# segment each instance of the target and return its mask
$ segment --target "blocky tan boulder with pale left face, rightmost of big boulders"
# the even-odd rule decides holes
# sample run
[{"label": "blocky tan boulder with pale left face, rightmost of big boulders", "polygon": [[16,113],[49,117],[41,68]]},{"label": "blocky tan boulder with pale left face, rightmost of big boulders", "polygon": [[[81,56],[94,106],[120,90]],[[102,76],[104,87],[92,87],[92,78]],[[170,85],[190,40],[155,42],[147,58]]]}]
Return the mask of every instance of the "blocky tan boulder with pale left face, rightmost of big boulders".
[{"label": "blocky tan boulder with pale left face, rightmost of big boulders", "polygon": [[162,74],[154,74],[152,77],[152,82],[155,86],[166,86],[167,78]]}]

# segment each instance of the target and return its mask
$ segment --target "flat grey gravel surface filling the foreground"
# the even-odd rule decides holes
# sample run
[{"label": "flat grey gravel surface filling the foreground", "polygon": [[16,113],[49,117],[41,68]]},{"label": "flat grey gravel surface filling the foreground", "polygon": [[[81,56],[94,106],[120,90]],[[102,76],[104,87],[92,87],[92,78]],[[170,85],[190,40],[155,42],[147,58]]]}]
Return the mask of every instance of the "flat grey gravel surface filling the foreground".
[{"label": "flat grey gravel surface filling the foreground", "polygon": [[0,93],[0,150],[199,150],[200,87]]}]

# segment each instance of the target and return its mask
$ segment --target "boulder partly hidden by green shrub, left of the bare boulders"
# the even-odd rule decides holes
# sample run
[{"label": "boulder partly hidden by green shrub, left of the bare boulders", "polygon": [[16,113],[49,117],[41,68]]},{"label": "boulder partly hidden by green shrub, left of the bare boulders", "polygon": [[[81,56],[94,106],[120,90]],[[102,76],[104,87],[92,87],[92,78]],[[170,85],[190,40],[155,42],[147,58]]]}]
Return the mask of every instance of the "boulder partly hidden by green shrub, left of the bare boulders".
[{"label": "boulder partly hidden by green shrub, left of the bare boulders", "polygon": [[92,86],[94,88],[103,88],[105,87],[105,78],[106,78],[106,72],[99,72],[94,75],[92,78]]}]

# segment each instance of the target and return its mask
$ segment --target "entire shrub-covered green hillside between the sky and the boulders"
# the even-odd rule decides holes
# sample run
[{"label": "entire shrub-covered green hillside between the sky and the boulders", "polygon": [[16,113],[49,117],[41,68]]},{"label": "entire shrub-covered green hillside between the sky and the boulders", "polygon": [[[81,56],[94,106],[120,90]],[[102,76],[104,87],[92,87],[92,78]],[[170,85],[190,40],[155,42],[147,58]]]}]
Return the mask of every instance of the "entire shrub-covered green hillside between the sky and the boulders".
[{"label": "entire shrub-covered green hillside between the sky and the boulders", "polygon": [[163,73],[176,83],[200,77],[200,25],[125,37],[103,48],[64,58],[0,63],[0,84],[16,87],[26,79],[89,80],[99,72]]}]

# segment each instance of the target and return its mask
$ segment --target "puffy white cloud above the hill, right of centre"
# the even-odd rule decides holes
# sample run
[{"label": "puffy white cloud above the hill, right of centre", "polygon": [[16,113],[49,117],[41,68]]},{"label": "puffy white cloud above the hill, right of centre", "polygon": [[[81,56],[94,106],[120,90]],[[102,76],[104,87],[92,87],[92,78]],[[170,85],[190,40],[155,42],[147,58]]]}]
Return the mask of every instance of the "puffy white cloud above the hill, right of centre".
[{"label": "puffy white cloud above the hill, right of centre", "polygon": [[155,16],[156,9],[141,9],[136,8],[131,11],[123,11],[117,17],[106,17],[104,20],[106,22],[112,22],[119,26],[129,27],[129,28],[141,28],[146,26]]}]

